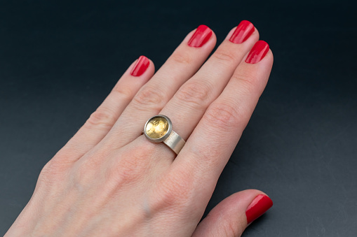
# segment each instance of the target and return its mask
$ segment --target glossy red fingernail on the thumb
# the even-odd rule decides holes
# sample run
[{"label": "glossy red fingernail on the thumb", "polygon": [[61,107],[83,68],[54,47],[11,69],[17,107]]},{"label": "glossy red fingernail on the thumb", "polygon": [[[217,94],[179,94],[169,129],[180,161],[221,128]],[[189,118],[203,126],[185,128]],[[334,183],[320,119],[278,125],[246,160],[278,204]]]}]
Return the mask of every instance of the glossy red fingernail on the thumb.
[{"label": "glossy red fingernail on the thumb", "polygon": [[273,206],[273,201],[269,199],[269,196],[264,194],[256,196],[248,206],[247,210],[245,210],[248,224],[263,215],[269,208],[271,208],[271,206]]}]

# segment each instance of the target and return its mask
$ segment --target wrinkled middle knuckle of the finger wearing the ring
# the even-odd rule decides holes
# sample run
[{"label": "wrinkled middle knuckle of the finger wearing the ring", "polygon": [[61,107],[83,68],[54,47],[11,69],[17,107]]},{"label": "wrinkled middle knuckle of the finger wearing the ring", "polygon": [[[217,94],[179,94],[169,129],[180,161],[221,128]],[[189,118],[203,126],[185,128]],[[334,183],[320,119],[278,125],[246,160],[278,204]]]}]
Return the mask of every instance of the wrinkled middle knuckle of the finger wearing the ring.
[{"label": "wrinkled middle knuckle of the finger wearing the ring", "polygon": [[195,107],[206,106],[210,87],[205,82],[188,82],[177,92],[177,99]]}]

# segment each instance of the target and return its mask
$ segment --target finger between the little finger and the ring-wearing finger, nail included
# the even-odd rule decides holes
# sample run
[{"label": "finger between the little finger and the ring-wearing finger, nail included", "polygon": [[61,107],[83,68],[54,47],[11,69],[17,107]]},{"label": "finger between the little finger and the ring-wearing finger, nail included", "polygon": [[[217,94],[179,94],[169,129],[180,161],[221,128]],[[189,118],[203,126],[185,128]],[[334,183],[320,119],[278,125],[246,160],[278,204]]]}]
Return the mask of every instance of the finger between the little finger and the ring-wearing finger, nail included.
[{"label": "finger between the little finger and the ring-wearing finger, nail included", "polygon": [[120,148],[140,136],[147,119],[157,115],[177,89],[196,73],[215,47],[215,42],[213,31],[206,26],[201,25],[196,31],[191,31],[136,94],[103,143],[110,148]]}]

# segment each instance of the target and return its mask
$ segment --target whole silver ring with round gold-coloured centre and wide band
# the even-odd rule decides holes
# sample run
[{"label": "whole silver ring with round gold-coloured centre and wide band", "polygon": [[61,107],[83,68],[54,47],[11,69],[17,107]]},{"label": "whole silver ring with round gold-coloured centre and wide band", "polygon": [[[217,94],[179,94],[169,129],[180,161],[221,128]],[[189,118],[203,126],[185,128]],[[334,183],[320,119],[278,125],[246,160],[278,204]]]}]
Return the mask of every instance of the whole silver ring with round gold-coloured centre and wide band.
[{"label": "whole silver ring with round gold-coloured centre and wide band", "polygon": [[186,143],[173,131],[173,123],[165,115],[150,117],[144,126],[144,135],[153,143],[165,143],[177,155]]}]

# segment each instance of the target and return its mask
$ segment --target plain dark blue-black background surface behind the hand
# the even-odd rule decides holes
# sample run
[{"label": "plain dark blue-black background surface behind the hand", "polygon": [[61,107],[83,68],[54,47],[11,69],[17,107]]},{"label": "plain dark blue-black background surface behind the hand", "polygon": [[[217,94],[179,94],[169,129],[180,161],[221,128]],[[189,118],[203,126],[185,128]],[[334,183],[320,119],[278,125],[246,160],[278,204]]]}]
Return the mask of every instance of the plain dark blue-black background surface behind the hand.
[{"label": "plain dark blue-black background surface behind the hand", "polygon": [[243,236],[357,236],[356,8],[348,1],[1,1],[0,234],[41,168],[146,55],[198,26],[250,20],[274,52],[267,89],[208,210],[242,189],[269,213]]}]

